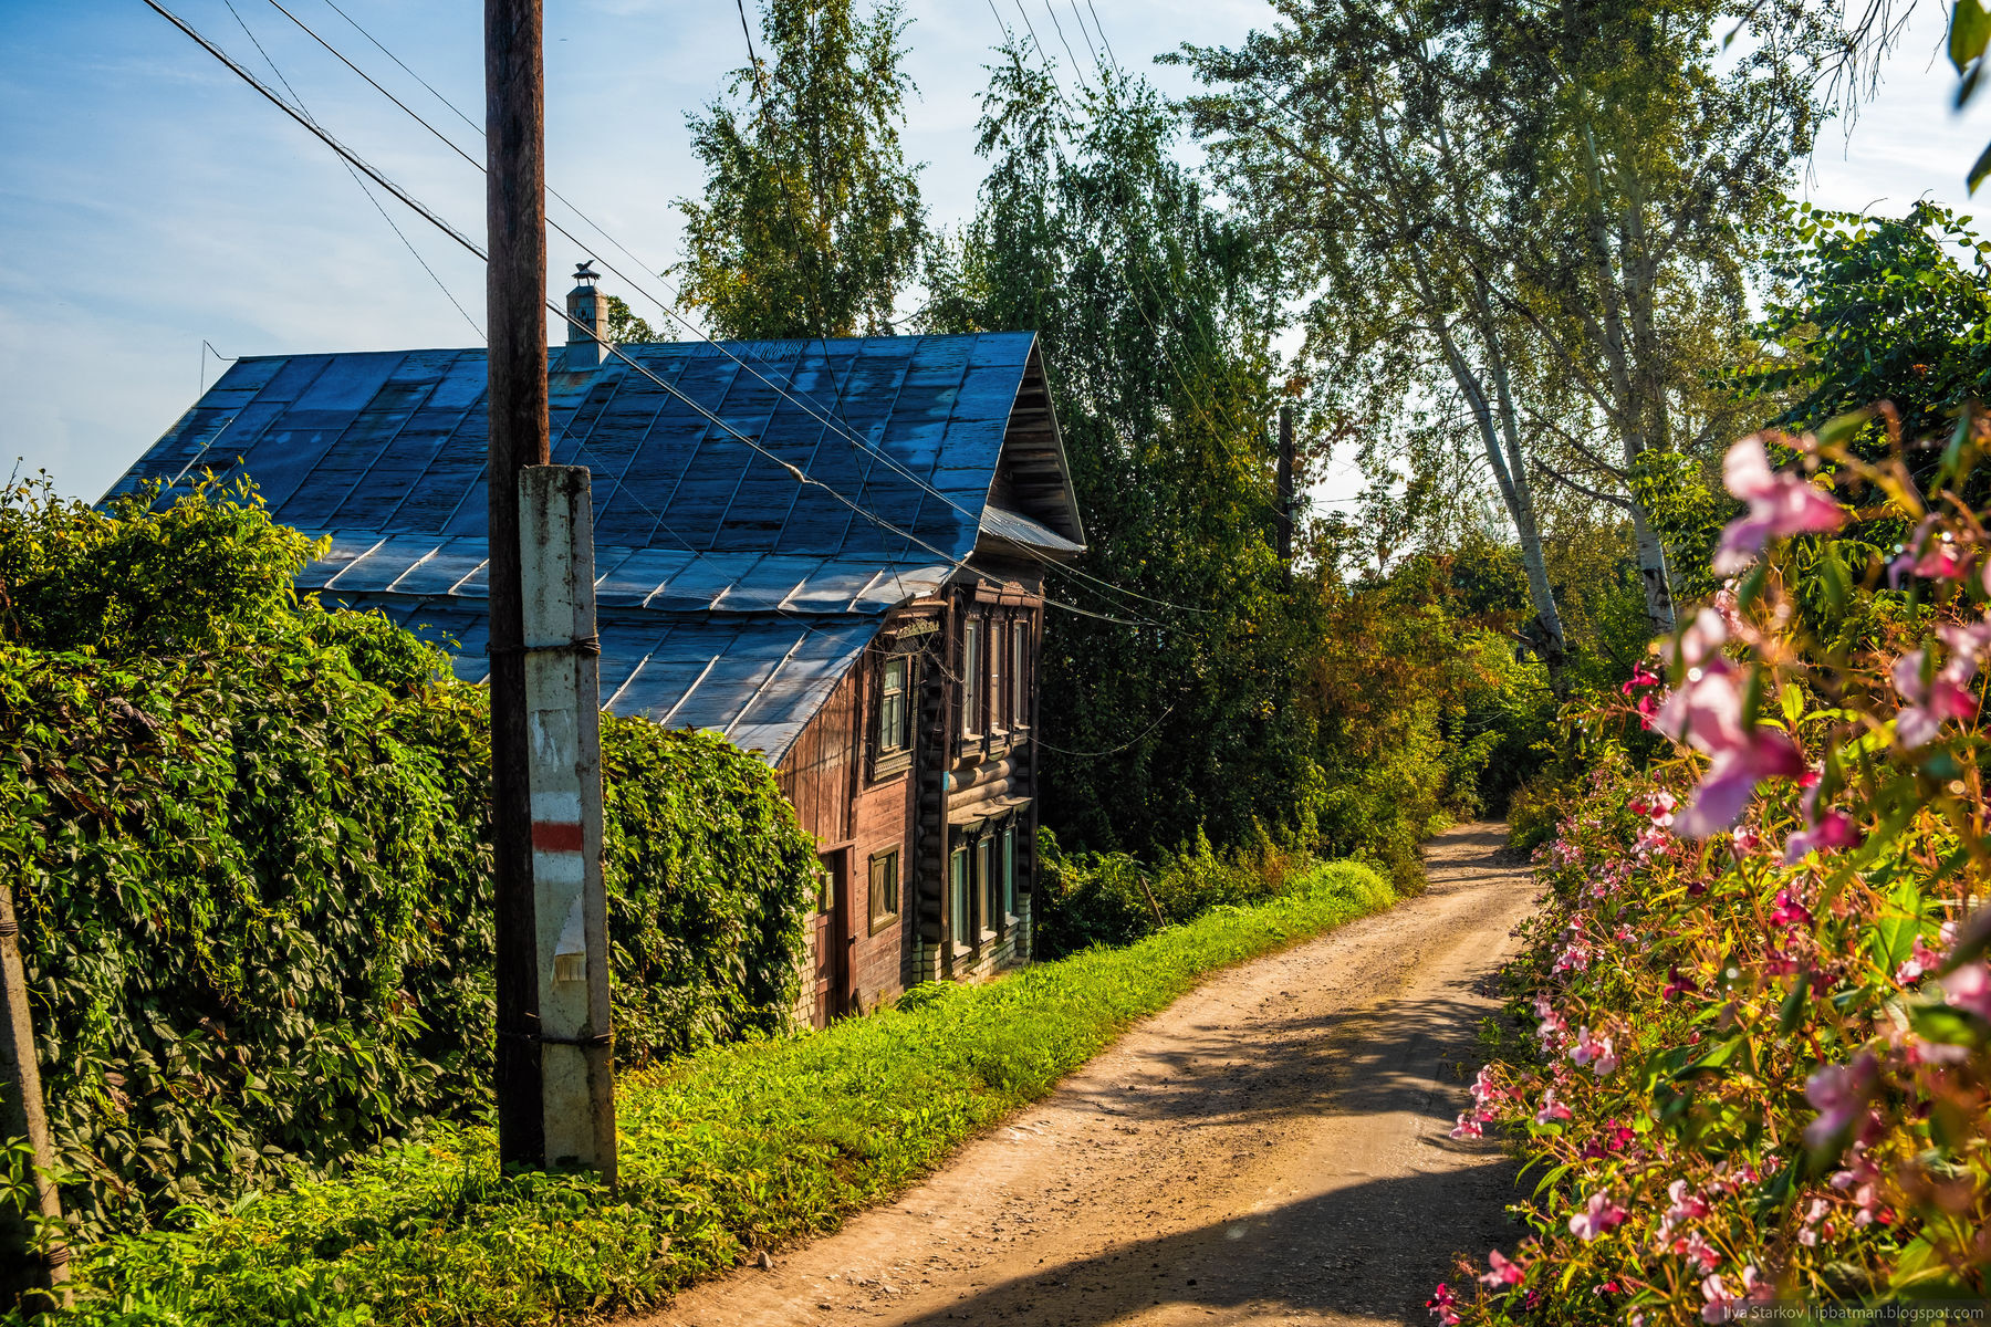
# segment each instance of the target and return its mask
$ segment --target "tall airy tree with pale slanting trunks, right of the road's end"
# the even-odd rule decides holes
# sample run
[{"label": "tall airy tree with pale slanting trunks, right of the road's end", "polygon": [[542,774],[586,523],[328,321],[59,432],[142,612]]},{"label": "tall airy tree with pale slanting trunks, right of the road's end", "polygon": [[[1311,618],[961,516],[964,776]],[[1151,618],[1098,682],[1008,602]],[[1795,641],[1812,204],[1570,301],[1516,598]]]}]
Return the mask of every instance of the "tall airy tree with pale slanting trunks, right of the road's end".
[{"label": "tall airy tree with pale slanting trunks, right of the road's end", "polygon": [[[1830,32],[1746,8],[1274,0],[1280,22],[1240,48],[1177,56],[1211,86],[1189,113],[1226,189],[1312,279],[1330,390],[1459,404],[1551,668],[1539,483],[1631,519],[1647,619],[1672,625],[1627,479],[1700,436],[1682,422],[1744,322],[1750,227],[1810,149]],[[1736,24],[1754,26],[1724,56]]]}]

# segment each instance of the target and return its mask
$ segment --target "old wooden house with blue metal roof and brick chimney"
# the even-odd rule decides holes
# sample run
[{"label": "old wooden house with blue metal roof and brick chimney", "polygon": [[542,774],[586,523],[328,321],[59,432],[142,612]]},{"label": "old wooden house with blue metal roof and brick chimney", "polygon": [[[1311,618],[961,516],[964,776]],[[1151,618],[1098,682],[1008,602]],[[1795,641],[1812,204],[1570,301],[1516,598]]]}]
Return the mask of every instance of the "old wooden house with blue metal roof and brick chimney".
[{"label": "old wooden house with blue metal roof and brick chimney", "polygon": [[[550,354],[552,454],[593,472],[601,704],[774,766],[824,867],[806,1017],[1025,959],[1043,575],[1083,551],[1035,336],[615,354],[591,283],[567,302],[595,336]],[[482,350],[243,358],[110,495],[247,474],[331,537],[301,591],[482,680],[484,394]]]}]

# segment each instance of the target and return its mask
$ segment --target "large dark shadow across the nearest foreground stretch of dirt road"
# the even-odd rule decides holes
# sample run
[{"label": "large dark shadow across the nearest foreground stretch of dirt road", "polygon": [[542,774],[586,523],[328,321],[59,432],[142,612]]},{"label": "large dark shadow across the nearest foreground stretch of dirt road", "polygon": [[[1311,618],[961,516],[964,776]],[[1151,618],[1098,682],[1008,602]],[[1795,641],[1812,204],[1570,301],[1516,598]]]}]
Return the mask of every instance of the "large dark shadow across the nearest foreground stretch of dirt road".
[{"label": "large dark shadow across the nearest foreground stretch of dirt road", "polygon": [[1374,1180],[974,1287],[906,1325],[1105,1327],[1157,1305],[1430,1323],[1424,1301],[1438,1281],[1457,1281],[1459,1253],[1483,1263],[1491,1247],[1513,1249],[1519,1228],[1503,1204],[1515,1174],[1493,1158]]}]

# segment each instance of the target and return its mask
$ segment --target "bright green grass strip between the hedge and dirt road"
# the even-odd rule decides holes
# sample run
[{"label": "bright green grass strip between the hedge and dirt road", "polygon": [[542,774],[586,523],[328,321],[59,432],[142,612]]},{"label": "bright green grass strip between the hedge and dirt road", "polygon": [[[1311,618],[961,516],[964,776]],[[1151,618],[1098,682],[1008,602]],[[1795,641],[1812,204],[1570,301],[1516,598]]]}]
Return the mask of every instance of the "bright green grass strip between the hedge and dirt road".
[{"label": "bright green grass strip between the hedge and dirt road", "polygon": [[1394,899],[1368,867],[1320,865],[1127,949],[625,1078],[619,1194],[504,1174],[490,1130],[436,1128],[334,1180],[94,1245],[60,1321],[484,1325],[653,1305],[904,1190],[1205,975]]}]

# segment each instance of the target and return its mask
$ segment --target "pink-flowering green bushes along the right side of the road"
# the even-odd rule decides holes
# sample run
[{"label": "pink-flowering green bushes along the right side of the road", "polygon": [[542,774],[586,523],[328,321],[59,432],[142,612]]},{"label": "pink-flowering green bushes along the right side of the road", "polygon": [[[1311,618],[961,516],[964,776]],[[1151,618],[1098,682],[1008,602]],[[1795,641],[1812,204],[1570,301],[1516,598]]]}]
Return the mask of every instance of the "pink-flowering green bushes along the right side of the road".
[{"label": "pink-flowering green bushes along the right side of the road", "polygon": [[[1513,1208],[1533,1233],[1439,1287],[1445,1323],[1991,1291],[1991,539],[1899,468],[1848,513],[1766,442],[1860,466],[1730,452],[1738,579],[1613,696],[1676,752],[1605,748],[1535,857],[1509,969],[1531,1035],[1455,1136],[1503,1132],[1545,1182]],[[1822,593],[1881,519],[1913,533]]]}]

